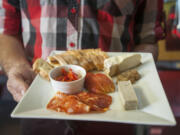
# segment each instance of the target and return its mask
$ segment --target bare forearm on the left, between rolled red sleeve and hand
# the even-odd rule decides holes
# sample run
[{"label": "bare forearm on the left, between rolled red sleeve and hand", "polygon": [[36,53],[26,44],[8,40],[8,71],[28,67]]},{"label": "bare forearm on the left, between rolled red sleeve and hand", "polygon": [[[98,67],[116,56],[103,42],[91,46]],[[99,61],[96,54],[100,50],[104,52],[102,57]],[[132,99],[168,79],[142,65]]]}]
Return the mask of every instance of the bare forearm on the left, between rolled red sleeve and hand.
[{"label": "bare forearm on the left, between rolled red sleeve and hand", "polygon": [[0,65],[6,74],[10,68],[19,65],[29,65],[21,42],[9,35],[0,35]]}]

